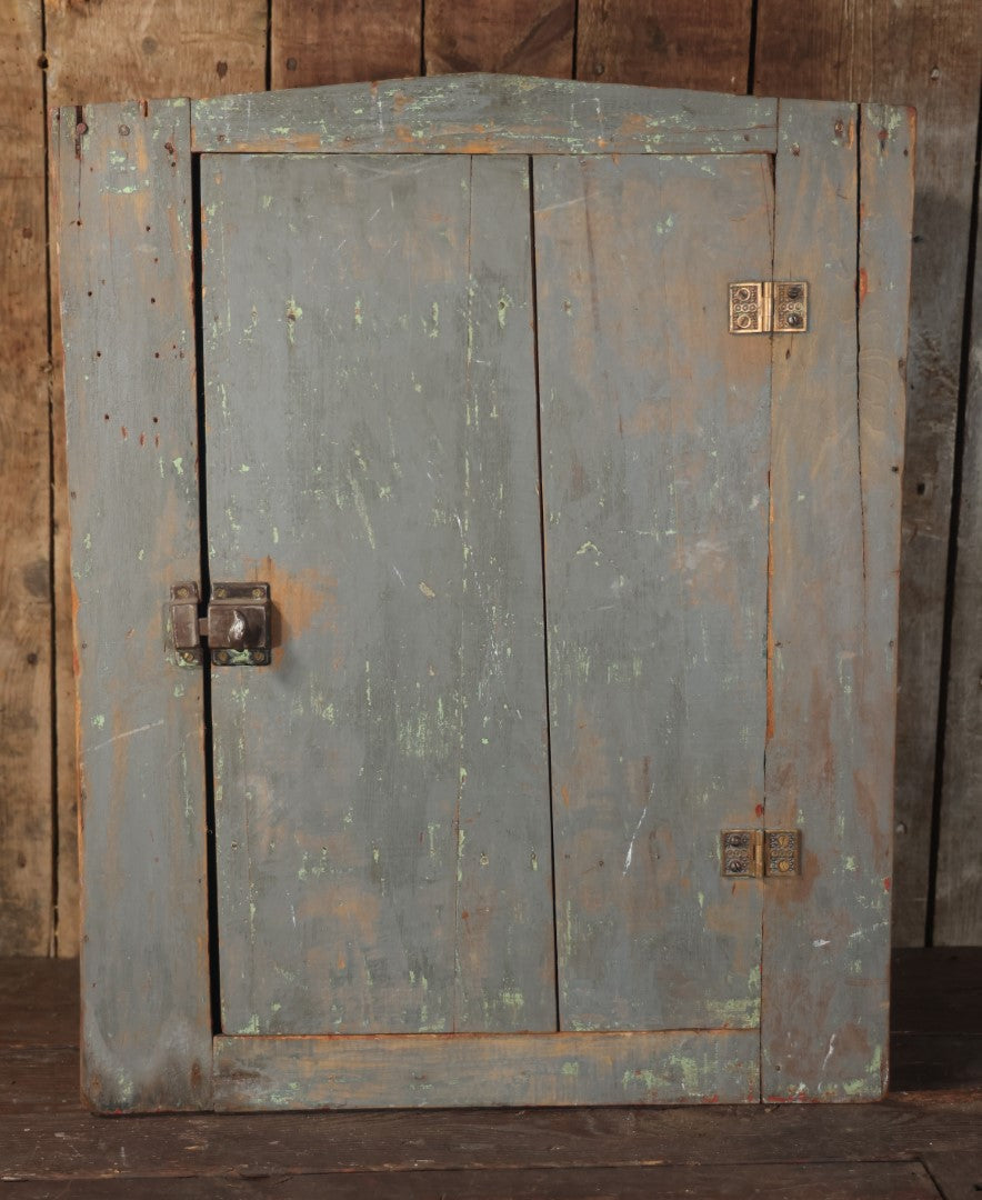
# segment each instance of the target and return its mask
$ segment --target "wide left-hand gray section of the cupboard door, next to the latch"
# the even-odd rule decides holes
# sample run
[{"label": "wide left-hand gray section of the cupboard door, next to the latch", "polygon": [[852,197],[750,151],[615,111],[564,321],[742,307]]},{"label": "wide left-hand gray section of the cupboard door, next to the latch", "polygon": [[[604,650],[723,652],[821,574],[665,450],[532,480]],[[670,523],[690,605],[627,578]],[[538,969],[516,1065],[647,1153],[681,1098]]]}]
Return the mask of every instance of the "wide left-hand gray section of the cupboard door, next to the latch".
[{"label": "wide left-hand gray section of the cupboard door, next to the latch", "polygon": [[528,160],[201,163],[223,1030],[554,1030]]}]

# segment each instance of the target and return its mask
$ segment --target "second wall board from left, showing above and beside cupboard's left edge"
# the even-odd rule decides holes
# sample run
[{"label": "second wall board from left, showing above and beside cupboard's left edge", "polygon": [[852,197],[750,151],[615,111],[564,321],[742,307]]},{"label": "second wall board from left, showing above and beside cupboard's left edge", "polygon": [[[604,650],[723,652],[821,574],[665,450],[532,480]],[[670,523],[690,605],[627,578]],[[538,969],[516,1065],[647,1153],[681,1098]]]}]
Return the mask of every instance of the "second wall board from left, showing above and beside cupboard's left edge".
[{"label": "second wall board from left, showing above and beside cupboard's left edge", "polygon": [[[265,79],[266,4],[215,0],[177,4],[113,0],[112,5],[48,0],[44,6],[49,107],[149,96],[200,96],[261,89]],[[26,61],[26,60],[25,60]],[[49,170],[55,174],[52,156]],[[49,214],[54,224],[54,198]],[[56,264],[50,290],[58,295]],[[78,763],[72,670],[72,578],[61,328],[52,312],[52,446],[54,455],[55,719],[58,733],[58,925],[60,955],[78,954]]]}]

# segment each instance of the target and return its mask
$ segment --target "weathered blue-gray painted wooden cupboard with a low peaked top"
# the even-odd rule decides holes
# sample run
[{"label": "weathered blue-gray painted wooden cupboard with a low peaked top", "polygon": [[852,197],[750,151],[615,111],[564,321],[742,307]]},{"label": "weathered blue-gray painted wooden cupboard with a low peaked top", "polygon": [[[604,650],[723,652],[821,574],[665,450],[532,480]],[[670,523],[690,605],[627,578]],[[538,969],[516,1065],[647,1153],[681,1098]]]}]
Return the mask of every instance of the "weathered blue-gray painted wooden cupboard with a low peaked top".
[{"label": "weathered blue-gray painted wooden cupboard with a low peaked top", "polygon": [[[53,145],[92,1108],[879,1097],[912,115],[462,76]],[[181,581],[269,583],[271,661],[168,652]]]}]

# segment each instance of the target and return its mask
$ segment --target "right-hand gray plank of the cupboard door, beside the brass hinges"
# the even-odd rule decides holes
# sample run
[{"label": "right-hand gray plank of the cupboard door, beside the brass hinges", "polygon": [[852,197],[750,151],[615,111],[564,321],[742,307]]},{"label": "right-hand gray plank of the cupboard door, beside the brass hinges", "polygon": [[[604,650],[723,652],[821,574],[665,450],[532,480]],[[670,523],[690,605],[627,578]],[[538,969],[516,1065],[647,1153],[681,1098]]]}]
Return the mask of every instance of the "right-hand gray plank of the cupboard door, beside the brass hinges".
[{"label": "right-hand gray plank of the cupboard door, beside the brass hinges", "polygon": [[763,158],[535,162],[564,1030],[759,1020],[771,218]]}]

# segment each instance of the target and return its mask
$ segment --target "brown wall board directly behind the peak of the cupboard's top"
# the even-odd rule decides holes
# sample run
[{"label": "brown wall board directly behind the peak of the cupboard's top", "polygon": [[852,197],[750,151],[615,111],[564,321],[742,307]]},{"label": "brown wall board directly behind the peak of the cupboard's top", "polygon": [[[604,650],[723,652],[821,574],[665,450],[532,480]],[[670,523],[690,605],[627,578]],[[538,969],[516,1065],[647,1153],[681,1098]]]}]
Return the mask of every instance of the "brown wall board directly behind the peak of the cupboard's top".
[{"label": "brown wall board directly behind the peak of the cupboard's top", "polygon": [[494,6],[427,0],[426,73],[498,71],[568,79],[574,0],[506,0]]}]

